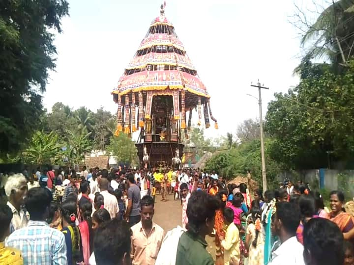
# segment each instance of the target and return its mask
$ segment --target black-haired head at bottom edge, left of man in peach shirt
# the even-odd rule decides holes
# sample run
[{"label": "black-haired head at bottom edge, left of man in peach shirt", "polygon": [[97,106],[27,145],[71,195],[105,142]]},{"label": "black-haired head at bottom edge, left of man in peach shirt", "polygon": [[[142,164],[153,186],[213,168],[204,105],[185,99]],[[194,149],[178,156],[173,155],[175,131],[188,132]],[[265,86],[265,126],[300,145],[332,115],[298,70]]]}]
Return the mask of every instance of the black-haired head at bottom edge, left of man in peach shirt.
[{"label": "black-haired head at bottom edge, left of man in peach shirt", "polygon": [[120,264],[124,254],[130,255],[131,230],[123,220],[112,219],[97,228],[94,253],[97,265]]}]

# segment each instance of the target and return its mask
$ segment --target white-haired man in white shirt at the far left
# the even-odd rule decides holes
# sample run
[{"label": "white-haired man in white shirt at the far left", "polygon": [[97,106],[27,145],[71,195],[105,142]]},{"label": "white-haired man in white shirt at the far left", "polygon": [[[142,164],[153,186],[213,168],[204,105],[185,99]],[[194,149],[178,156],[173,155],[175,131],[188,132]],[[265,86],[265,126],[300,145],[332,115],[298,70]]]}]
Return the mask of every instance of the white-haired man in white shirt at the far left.
[{"label": "white-haired man in white shirt at the far left", "polygon": [[5,184],[5,193],[8,198],[7,206],[12,211],[10,233],[27,226],[27,216],[21,209],[25,203],[28,185],[24,175],[16,174],[8,177]]}]

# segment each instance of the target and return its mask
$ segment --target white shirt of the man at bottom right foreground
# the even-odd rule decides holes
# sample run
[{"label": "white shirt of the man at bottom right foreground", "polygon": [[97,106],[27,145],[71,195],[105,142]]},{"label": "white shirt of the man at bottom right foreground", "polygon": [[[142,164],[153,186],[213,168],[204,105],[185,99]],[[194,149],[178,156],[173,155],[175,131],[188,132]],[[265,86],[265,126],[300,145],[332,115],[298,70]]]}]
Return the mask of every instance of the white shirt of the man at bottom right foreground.
[{"label": "white shirt of the man at bottom right foreground", "polygon": [[268,265],[305,265],[302,253],[303,246],[296,237],[289,238],[273,252],[273,258]]}]

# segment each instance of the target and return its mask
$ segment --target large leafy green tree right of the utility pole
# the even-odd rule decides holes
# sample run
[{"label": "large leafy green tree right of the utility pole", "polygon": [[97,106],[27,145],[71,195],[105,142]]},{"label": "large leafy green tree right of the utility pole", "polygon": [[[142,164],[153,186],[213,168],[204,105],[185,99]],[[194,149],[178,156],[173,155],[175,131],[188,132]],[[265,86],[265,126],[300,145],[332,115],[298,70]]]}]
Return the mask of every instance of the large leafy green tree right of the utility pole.
[{"label": "large leafy green tree right of the utility pole", "polygon": [[288,168],[326,167],[327,152],[350,161],[354,152],[354,61],[341,74],[305,57],[300,83],[268,104],[266,132],[271,157]]}]

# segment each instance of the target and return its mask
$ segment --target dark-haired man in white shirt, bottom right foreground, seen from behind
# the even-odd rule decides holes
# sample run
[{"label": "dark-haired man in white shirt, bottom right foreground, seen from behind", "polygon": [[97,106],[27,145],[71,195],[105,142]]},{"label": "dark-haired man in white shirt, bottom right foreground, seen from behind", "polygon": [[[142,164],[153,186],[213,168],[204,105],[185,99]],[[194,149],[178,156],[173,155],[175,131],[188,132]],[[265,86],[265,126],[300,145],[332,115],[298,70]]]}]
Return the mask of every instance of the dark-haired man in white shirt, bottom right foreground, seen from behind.
[{"label": "dark-haired man in white shirt, bottom right foreground, seen from behind", "polygon": [[280,238],[281,245],[273,252],[268,265],[305,265],[303,246],[296,238],[299,223],[300,212],[297,207],[290,202],[277,203],[274,231]]}]

